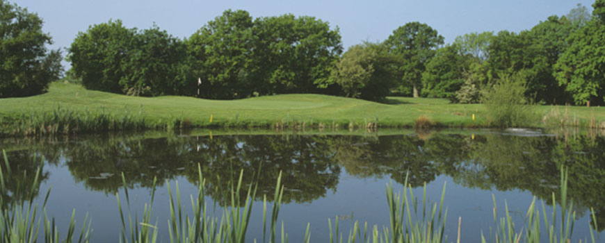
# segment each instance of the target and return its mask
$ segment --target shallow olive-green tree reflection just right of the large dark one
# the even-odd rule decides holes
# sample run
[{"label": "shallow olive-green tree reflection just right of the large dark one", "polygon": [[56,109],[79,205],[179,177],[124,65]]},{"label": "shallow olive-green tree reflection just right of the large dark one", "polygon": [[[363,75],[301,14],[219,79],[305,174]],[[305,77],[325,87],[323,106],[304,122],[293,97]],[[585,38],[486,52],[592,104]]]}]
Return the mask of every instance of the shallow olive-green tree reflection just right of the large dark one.
[{"label": "shallow olive-green tree reflection just right of the large dark one", "polygon": [[414,135],[380,137],[335,137],[332,149],[335,158],[348,174],[359,177],[389,175],[403,183],[410,173],[412,187],[434,181],[441,169],[466,158],[468,149],[459,136],[434,135],[422,140]]}]

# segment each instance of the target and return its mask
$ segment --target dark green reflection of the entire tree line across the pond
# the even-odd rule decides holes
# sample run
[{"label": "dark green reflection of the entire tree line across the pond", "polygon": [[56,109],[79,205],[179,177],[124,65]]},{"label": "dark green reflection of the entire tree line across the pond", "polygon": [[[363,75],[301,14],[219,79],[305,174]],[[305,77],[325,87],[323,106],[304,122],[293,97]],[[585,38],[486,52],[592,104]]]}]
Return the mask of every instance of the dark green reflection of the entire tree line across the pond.
[{"label": "dark green reflection of the entire tree line across the pond", "polygon": [[[526,190],[547,202],[559,192],[559,168],[570,169],[569,198],[578,212],[594,207],[605,222],[605,138],[570,136],[515,137],[433,133],[392,136],[227,135],[144,139],[138,136],[93,136],[69,140],[17,142],[11,165],[35,173],[34,154],[50,164],[65,158],[74,180],[91,190],[114,193],[124,172],[130,187],[150,187],[153,178],[184,176],[197,182],[197,165],[207,179],[207,194],[225,204],[218,188],[245,173],[245,187],[258,173],[257,200],[273,198],[275,179],[283,171],[284,202],[304,203],[336,190],[344,167],[357,177],[389,176],[403,183],[410,171],[413,187],[440,174],[467,187]],[[0,142],[0,145],[1,144]],[[15,151],[18,151],[15,152]],[[42,178],[47,179],[47,174]],[[225,188],[226,189],[226,188]],[[12,189],[16,190],[16,189]],[[243,192],[244,193],[244,192]],[[605,224],[600,224],[603,229]]]}]

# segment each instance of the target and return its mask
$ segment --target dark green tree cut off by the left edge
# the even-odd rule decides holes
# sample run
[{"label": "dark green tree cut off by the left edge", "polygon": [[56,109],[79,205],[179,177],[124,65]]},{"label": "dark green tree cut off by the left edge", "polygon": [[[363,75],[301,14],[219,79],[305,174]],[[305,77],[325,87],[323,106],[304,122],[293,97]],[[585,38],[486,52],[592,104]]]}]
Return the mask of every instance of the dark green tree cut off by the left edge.
[{"label": "dark green tree cut off by the left edge", "polygon": [[41,94],[63,72],[61,52],[37,14],[0,0],[0,98]]}]

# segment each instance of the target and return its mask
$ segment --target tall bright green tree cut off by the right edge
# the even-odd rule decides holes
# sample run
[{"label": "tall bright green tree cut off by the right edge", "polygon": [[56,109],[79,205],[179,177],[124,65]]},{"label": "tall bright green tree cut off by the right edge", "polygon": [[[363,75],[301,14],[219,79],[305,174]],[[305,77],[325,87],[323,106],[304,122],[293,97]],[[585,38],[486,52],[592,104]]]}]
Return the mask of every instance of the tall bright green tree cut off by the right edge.
[{"label": "tall bright green tree cut off by the right edge", "polygon": [[605,103],[605,1],[597,0],[592,7],[592,21],[570,35],[570,47],[554,66],[559,85],[576,104]]}]

